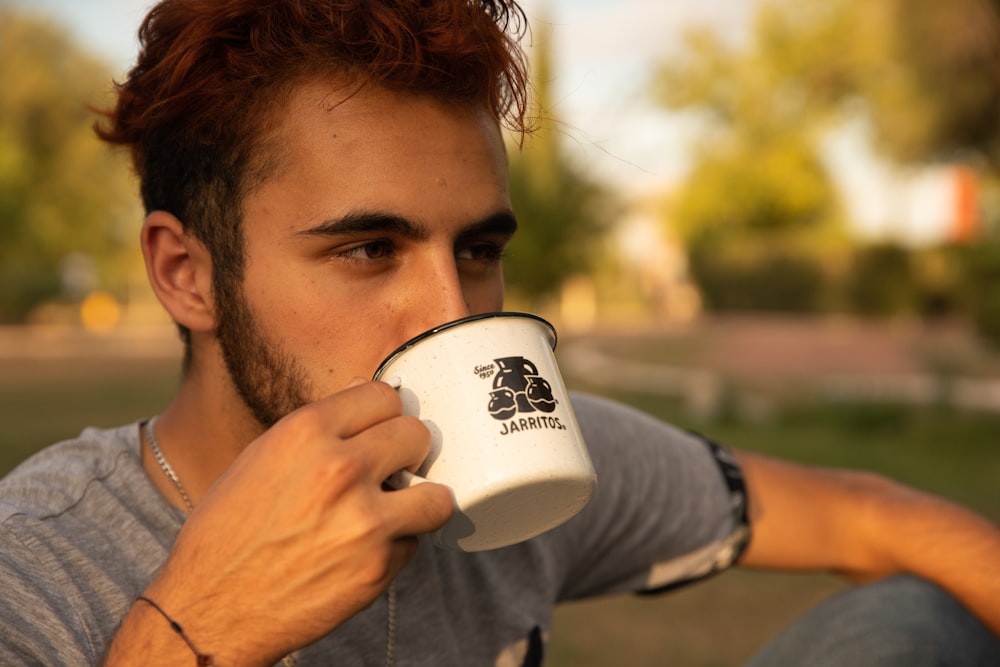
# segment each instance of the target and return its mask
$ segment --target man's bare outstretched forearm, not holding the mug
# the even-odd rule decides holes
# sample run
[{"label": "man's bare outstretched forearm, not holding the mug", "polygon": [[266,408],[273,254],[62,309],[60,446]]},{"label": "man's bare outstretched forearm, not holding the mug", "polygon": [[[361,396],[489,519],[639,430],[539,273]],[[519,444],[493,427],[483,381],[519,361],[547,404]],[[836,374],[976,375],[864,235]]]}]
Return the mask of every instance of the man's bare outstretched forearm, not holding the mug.
[{"label": "man's bare outstretched forearm, not holding the mug", "polygon": [[753,526],[741,565],[857,581],[908,572],[950,591],[1000,635],[1000,529],[990,521],[873,473],[736,456]]}]

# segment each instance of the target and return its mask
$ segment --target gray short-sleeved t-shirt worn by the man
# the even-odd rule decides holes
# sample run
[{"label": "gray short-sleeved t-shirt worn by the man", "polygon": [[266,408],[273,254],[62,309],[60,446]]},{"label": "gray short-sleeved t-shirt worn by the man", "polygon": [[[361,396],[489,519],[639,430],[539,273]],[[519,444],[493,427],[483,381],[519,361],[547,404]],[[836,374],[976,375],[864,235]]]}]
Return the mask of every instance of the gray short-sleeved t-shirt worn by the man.
[{"label": "gray short-sleeved t-shirt worn by the man", "polygon": [[[540,664],[558,602],[665,589],[735,559],[745,505],[721,449],[603,399],[573,403],[594,499],[503,549],[451,552],[422,538],[396,582],[396,665]],[[167,558],[184,514],[145,475],[139,426],[88,429],[0,481],[0,664],[97,664]],[[383,595],[296,664],[382,664],[387,612]]]}]

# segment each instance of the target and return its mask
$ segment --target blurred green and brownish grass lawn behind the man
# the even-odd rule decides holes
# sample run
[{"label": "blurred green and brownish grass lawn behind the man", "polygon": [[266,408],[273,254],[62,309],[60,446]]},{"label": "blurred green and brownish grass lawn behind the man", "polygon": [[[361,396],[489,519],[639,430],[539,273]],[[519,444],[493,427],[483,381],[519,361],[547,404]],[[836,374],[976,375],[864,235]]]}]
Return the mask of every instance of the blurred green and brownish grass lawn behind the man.
[{"label": "blurred green and brownish grass lawn behind the man", "polygon": [[[149,416],[170,399],[178,363],[0,361],[0,473],[85,425]],[[577,383],[579,388],[585,388]],[[878,470],[1000,521],[1000,418],[943,409],[803,406],[762,423],[696,423],[670,401],[619,398],[735,447]],[[827,575],[728,572],[663,598],[615,598],[558,610],[555,667],[738,665],[767,637],[843,584]]]}]

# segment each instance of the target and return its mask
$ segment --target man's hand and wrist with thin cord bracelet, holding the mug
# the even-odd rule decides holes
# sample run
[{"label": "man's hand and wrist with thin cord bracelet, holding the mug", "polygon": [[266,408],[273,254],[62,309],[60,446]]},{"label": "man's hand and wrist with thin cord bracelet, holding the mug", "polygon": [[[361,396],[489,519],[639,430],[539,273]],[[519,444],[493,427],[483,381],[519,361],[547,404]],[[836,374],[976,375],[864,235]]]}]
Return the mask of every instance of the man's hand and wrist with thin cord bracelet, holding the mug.
[{"label": "man's hand and wrist with thin cord bracelet, holding the mug", "polygon": [[[353,382],[295,411],[202,498],[146,595],[221,667],[274,664],[371,604],[415,552],[414,536],[451,516],[443,486],[382,486],[429,449],[427,428],[383,383]],[[180,664],[173,656],[185,652],[190,661],[140,604],[107,664]]]}]

